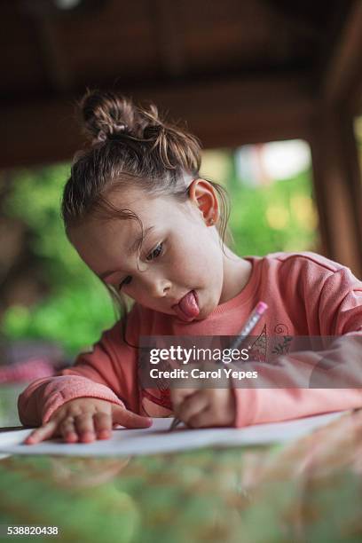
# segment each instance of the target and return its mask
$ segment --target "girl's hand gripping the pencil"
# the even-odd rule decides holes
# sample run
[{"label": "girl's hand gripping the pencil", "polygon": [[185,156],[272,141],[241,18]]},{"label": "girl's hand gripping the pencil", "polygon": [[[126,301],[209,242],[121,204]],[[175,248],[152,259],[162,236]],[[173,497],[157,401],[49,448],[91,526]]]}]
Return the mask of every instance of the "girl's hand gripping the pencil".
[{"label": "girl's hand gripping the pencil", "polygon": [[232,426],[236,407],[232,389],[171,389],[175,416],[191,428]]}]

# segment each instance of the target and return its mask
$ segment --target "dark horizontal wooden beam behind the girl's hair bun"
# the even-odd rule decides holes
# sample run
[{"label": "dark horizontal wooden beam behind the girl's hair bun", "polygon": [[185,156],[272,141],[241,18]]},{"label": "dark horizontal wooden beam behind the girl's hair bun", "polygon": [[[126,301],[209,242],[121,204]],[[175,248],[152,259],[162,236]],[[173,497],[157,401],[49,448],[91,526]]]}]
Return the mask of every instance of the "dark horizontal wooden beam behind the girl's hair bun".
[{"label": "dark horizontal wooden beam behind the girl's hair bun", "polygon": [[[205,148],[308,138],[315,107],[303,77],[122,91],[185,120]],[[75,98],[3,106],[0,118],[0,169],[67,161],[83,143]]]}]

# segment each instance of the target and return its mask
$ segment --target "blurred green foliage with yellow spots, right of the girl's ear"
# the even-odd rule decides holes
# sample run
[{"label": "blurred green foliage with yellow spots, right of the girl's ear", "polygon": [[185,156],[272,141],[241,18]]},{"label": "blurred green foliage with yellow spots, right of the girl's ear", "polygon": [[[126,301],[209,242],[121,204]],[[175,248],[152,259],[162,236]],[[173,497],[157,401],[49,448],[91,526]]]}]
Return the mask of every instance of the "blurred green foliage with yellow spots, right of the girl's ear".
[{"label": "blurred green foliage with yellow spots, right of the girl's ear", "polygon": [[234,179],[229,194],[229,225],[240,256],[318,250],[310,171],[256,188]]}]

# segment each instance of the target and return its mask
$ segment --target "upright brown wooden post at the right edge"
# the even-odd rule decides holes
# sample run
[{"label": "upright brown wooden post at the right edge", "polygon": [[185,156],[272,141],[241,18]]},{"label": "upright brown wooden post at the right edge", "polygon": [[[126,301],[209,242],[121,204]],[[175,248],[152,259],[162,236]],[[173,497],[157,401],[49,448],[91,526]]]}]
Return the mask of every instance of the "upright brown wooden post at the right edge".
[{"label": "upright brown wooden post at the right edge", "polygon": [[324,253],[362,278],[362,185],[353,117],[320,107],[310,145]]}]

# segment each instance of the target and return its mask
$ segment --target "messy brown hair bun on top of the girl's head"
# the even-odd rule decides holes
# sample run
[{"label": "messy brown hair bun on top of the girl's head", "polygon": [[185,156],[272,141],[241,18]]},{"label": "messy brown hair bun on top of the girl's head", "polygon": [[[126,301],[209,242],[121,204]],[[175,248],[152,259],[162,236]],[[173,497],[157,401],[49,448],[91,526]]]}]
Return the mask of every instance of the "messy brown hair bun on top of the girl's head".
[{"label": "messy brown hair bun on top of the girl's head", "polygon": [[86,134],[93,143],[129,134],[140,138],[145,122],[130,99],[114,92],[87,91],[81,101]]}]

